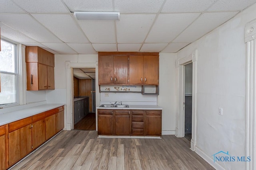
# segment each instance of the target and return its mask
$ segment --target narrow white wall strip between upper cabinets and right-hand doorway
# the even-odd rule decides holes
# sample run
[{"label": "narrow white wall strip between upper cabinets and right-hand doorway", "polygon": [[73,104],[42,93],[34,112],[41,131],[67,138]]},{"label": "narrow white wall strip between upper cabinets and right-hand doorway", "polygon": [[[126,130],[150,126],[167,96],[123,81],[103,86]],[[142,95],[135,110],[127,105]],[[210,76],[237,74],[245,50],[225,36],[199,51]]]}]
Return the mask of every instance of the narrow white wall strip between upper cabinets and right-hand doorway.
[{"label": "narrow white wall strip between upper cabinets and right-hand doorway", "polygon": [[174,135],[176,127],[176,53],[159,54],[159,106],[162,134]]}]

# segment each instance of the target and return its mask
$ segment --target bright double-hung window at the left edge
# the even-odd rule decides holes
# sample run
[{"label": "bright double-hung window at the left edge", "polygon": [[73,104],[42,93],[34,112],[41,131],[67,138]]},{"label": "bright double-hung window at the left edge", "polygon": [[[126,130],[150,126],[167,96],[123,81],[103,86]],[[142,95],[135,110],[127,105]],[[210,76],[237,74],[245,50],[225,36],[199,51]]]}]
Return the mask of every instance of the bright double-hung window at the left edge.
[{"label": "bright double-hung window at the left edge", "polygon": [[17,45],[1,39],[0,105],[18,104]]}]

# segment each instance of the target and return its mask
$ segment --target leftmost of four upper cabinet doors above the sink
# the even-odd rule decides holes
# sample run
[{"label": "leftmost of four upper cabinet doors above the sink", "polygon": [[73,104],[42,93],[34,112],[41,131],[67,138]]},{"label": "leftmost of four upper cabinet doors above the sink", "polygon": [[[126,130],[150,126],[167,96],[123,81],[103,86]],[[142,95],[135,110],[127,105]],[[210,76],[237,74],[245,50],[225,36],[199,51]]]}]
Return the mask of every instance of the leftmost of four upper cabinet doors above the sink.
[{"label": "leftmost of four upper cabinet doors above the sink", "polygon": [[99,56],[99,84],[114,83],[114,56]]}]

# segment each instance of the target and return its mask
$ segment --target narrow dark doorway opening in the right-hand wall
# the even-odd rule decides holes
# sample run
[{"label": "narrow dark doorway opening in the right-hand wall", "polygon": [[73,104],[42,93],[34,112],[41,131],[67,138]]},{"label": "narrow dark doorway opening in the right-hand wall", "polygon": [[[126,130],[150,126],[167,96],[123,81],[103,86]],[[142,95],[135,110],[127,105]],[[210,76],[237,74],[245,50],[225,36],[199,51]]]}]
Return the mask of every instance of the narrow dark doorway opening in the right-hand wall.
[{"label": "narrow dark doorway opening in the right-hand wall", "polygon": [[185,138],[190,142],[192,138],[192,70],[193,64],[185,65]]}]

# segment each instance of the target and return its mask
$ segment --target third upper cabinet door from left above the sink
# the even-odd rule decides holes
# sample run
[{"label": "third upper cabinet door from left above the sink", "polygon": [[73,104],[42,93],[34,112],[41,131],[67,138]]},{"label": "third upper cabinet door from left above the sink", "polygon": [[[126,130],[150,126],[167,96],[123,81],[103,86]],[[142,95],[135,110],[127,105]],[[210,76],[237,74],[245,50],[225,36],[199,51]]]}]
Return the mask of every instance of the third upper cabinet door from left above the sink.
[{"label": "third upper cabinet door from left above the sink", "polygon": [[129,84],[143,84],[143,56],[129,57]]}]

